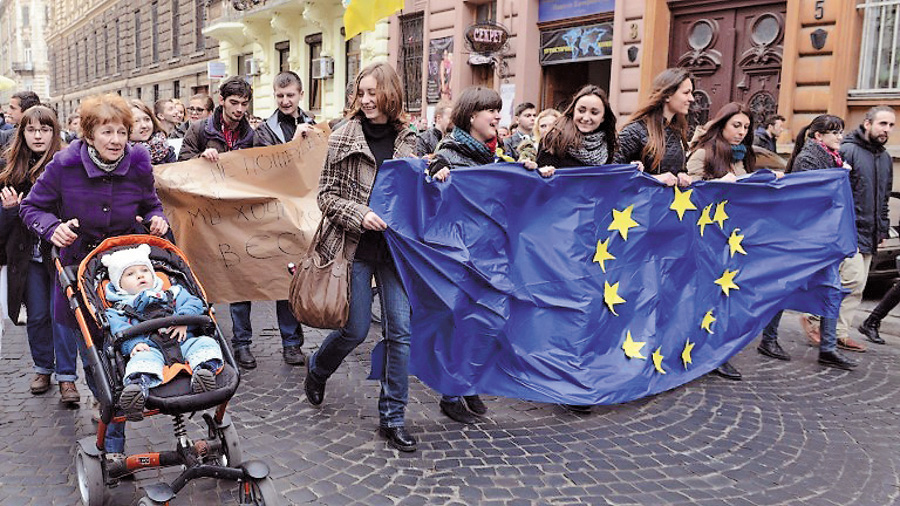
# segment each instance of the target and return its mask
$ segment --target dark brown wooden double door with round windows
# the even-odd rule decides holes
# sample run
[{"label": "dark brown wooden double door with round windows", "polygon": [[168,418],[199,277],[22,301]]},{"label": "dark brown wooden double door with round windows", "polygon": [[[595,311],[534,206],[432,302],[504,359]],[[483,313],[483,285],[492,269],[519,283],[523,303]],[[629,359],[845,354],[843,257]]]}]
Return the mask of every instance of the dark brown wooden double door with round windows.
[{"label": "dark brown wooden double door with round windows", "polygon": [[[698,3],[705,5],[696,7]],[[670,5],[669,66],[686,67],[696,79],[691,126],[705,123],[732,101],[749,105],[757,122],[774,114],[787,4],[739,1],[729,9],[704,2]]]}]

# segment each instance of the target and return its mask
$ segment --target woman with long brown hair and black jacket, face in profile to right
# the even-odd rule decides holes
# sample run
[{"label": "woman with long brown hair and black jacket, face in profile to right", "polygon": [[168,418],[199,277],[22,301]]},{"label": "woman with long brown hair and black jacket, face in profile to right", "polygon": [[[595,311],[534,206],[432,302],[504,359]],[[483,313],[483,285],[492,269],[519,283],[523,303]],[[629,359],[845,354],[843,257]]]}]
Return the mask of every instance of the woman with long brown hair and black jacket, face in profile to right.
[{"label": "woman with long brown hair and black jacket, face in profile to right", "polygon": [[656,76],[647,103],[619,132],[613,163],[640,162],[644,171],[669,186],[690,185],[684,151],[693,102],[694,82],[688,70],[671,68]]}]

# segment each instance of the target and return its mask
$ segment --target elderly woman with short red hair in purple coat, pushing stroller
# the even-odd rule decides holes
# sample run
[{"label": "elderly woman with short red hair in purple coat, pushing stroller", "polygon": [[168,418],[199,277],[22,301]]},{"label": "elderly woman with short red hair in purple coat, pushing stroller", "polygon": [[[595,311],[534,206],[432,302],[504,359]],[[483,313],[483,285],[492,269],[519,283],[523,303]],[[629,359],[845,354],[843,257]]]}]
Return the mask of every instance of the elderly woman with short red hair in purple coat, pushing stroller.
[{"label": "elderly woman with short red hair in purple coat, pushing stroller", "polygon": [[[84,139],[76,140],[47,164],[20,204],[19,216],[42,240],[61,248],[63,265],[76,265],[107,237],[140,232],[162,236],[169,225],[153,186],[146,149],[128,144],[134,117],[122,97],[113,94],[81,103]],[[70,339],[81,343],[75,317],[59,283],[51,296],[53,318]],[[94,391],[91,372],[85,371]],[[125,449],[124,426],[112,424],[106,451],[117,458]]]}]

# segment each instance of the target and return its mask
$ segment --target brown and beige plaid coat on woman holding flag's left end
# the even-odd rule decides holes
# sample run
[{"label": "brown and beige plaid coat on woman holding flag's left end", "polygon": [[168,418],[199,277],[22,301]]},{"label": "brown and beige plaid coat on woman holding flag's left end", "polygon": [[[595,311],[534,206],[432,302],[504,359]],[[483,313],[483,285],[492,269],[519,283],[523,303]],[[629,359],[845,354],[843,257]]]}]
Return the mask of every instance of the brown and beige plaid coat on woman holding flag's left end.
[{"label": "brown and beige plaid coat on woman holding flag's left end", "polygon": [[[409,127],[404,128],[394,141],[394,158],[415,156],[415,152],[416,134]],[[372,210],[369,197],[375,174],[375,157],[362,123],[351,118],[328,138],[328,154],[319,178],[318,203],[326,221],[316,252],[322,261],[331,261],[341,250],[345,232],[350,244],[359,243],[363,217]]]}]

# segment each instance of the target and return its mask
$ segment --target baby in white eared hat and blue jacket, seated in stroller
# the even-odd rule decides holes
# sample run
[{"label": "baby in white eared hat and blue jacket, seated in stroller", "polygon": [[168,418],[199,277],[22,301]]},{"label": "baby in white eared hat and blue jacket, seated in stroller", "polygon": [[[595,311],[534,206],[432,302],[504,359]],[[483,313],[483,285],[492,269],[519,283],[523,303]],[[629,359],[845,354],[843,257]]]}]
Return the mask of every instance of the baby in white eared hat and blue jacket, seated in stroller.
[{"label": "baby in white eared hat and blue jacket, seated in stroller", "polygon": [[[106,316],[113,335],[144,320],[199,315],[204,310],[203,301],[183,287],[173,284],[168,290],[162,289],[163,282],[153,271],[147,244],[103,255],[100,261],[109,269],[106,300],[112,307],[106,310]],[[181,343],[181,353],[193,372],[194,392],[216,388],[216,371],[222,367],[223,359],[215,339],[195,336],[185,325],[160,329],[159,333]],[[149,390],[163,382],[165,357],[149,335],[125,341],[121,351],[131,358],[125,367],[125,388],[119,397],[119,407],[128,420],[141,420]]]}]

